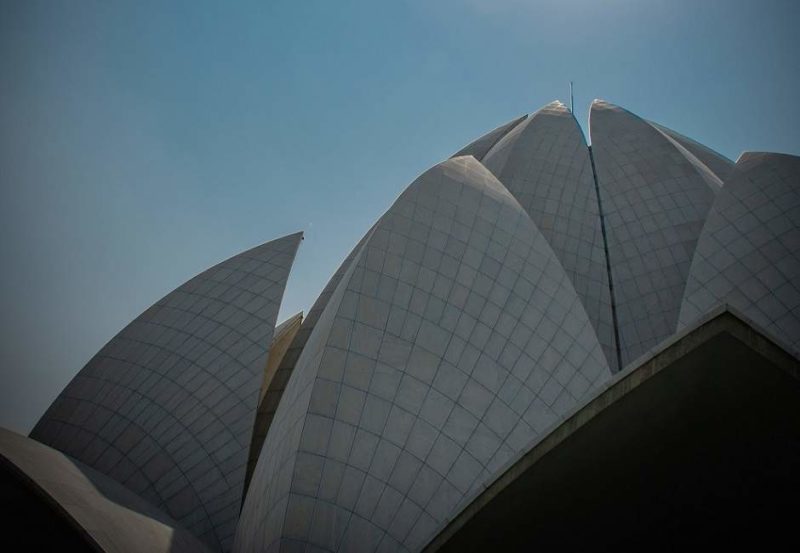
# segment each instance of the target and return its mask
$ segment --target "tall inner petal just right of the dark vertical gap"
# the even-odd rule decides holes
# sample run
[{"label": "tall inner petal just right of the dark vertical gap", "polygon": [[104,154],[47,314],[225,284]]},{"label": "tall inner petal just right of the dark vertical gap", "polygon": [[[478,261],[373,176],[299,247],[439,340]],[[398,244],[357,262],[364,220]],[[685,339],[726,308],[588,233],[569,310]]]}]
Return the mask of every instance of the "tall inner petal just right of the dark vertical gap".
[{"label": "tall inner petal just right of the dark vertical gap", "polygon": [[595,100],[590,130],[625,366],[675,332],[718,188],[696,158],[620,107]]}]

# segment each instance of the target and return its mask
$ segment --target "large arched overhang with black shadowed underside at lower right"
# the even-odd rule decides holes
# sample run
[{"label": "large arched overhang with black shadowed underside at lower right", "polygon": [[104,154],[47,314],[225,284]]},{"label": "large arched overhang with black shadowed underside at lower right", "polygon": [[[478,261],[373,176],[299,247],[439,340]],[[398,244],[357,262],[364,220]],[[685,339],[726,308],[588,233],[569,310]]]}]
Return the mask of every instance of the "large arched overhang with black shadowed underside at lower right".
[{"label": "large arched overhang with black shadowed underside at lower right", "polygon": [[723,306],[620,372],[426,551],[798,545],[800,361]]}]

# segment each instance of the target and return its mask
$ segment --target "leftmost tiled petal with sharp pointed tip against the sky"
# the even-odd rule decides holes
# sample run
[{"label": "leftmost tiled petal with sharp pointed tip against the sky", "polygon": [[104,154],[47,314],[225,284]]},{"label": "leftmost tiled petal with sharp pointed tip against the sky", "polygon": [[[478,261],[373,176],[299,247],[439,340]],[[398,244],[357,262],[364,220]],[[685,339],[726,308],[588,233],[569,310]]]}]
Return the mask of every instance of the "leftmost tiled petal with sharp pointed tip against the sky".
[{"label": "leftmost tiled petal with sharp pointed tip against the sky", "polygon": [[301,238],[232,257],[158,301],[89,361],[31,437],[228,550],[267,349]]}]

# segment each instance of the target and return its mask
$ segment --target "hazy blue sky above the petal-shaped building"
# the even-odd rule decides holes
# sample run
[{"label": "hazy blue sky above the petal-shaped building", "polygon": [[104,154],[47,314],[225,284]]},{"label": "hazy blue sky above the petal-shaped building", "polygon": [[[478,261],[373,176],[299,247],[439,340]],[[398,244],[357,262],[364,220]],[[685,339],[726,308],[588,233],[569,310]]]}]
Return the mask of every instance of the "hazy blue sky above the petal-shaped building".
[{"label": "hazy blue sky above the petal-shaped building", "polygon": [[281,319],[425,169],[561,99],[800,154],[793,0],[0,1],[0,426],[131,319],[305,231]]}]

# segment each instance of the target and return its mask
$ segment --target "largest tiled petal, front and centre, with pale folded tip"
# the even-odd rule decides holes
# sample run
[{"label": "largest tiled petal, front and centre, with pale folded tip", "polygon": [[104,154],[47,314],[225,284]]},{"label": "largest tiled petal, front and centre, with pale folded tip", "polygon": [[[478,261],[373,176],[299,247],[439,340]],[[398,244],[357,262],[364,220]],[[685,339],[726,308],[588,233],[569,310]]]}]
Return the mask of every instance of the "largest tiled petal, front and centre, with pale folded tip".
[{"label": "largest tiled petal, front and centre, with pale folded tip", "polygon": [[332,295],[236,551],[417,550],[610,377],[570,278],[473,157],[417,179]]}]

